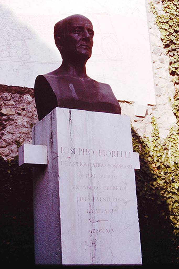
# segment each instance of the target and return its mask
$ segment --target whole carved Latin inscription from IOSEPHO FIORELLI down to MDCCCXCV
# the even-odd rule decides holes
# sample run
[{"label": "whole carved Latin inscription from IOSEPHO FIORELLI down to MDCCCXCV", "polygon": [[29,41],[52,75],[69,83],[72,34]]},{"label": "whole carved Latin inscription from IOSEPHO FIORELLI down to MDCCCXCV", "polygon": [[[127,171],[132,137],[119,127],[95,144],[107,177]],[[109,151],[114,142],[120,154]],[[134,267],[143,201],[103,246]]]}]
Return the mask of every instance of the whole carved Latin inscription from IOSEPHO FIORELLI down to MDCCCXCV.
[{"label": "whole carved Latin inscription from IOSEPHO FIORELLI down to MDCCCXCV", "polygon": [[127,203],[123,199],[127,184],[121,174],[123,169],[133,169],[132,153],[83,147],[60,147],[60,153],[60,165],[75,171],[76,182],[71,190],[75,193],[77,207],[84,208],[83,216],[95,225],[87,228],[88,233],[90,236],[111,235],[115,232],[111,228],[112,218],[121,214],[123,211],[119,208]]}]

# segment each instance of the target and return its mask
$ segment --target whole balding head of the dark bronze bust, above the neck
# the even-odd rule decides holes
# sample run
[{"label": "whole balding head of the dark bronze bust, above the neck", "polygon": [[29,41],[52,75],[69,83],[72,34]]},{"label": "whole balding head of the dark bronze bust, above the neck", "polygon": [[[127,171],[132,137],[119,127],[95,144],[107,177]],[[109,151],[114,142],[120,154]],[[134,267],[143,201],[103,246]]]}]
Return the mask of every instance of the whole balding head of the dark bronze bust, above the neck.
[{"label": "whole balding head of the dark bronze bust, above the neck", "polygon": [[54,26],[54,39],[63,59],[86,61],[92,54],[93,25],[82,15],[72,15]]}]

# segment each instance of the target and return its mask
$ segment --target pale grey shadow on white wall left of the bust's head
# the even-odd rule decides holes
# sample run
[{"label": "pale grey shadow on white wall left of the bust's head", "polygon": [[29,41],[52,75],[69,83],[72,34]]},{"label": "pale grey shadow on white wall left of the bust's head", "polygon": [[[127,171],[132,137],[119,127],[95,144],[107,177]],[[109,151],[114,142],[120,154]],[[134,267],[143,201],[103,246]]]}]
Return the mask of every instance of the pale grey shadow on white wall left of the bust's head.
[{"label": "pale grey shadow on white wall left of the bust's head", "polygon": [[[25,17],[27,24],[20,18],[0,4],[0,84],[32,88],[36,76],[58,68],[61,58],[60,54],[57,57],[57,50],[55,53],[50,49],[28,26],[31,24],[40,30],[38,17]],[[53,35],[53,29],[51,31]]]}]

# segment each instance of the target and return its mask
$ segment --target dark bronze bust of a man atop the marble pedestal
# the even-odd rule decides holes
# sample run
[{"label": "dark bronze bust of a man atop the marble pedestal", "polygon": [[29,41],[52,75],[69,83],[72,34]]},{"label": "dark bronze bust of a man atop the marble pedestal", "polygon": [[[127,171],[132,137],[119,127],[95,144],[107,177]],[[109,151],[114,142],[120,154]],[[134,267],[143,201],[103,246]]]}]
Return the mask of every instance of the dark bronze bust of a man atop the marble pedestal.
[{"label": "dark bronze bust of a man atop the marble pedestal", "polygon": [[63,61],[59,68],[35,80],[39,121],[55,107],[121,113],[111,87],[86,75],[93,35],[92,23],[82,15],[72,15],[55,24],[55,44]]}]

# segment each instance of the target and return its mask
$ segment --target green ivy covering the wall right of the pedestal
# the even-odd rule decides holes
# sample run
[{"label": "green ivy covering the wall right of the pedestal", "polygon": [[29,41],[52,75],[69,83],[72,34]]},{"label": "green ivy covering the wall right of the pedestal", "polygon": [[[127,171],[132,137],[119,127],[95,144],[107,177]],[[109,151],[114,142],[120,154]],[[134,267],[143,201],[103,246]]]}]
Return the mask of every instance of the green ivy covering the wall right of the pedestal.
[{"label": "green ivy covering the wall right of the pedestal", "polygon": [[151,140],[132,129],[133,150],[139,152],[141,165],[136,171],[136,188],[143,261],[160,264],[178,262],[179,234],[179,2],[162,0],[162,4],[162,14],[153,2],[151,9],[169,56],[169,73],[175,86],[170,102],[177,125],[163,141],[154,117]]}]

